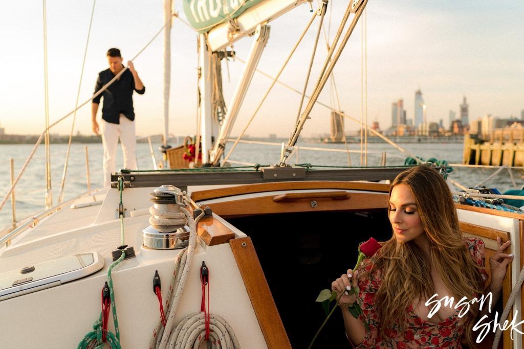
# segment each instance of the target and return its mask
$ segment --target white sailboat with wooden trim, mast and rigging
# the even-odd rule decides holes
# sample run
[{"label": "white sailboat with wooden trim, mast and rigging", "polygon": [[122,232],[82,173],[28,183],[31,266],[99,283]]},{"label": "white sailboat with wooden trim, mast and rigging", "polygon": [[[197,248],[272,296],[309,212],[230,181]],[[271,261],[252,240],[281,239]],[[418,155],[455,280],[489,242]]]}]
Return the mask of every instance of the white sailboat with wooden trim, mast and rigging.
[{"label": "white sailboat with wooden trim, mast and rigging", "polygon": [[[327,5],[321,3],[312,21],[323,17]],[[348,2],[279,163],[227,166],[225,142],[269,39],[269,22],[309,2],[185,1],[185,14],[200,32],[195,154],[201,152],[208,166],[199,167],[197,156],[196,168],[122,170],[112,174],[107,192],[92,190],[51,207],[2,237],[2,347],[92,347],[103,341],[126,348],[199,347],[206,341],[235,348],[307,346],[323,314],[314,299],[340,274],[334,266],[347,265],[356,257],[348,251],[370,235],[390,237],[388,183],[406,168],[290,164],[366,5]],[[165,10],[168,31],[178,15],[169,1]],[[224,108],[213,67],[246,36],[252,48]],[[166,128],[166,159],[167,139]],[[513,242],[515,258],[496,308],[501,312],[523,263],[524,215],[463,204],[456,209],[464,234],[484,240],[487,263],[497,237]],[[521,321],[520,290],[510,310],[509,319]],[[317,343],[347,346],[342,321],[332,320]],[[500,345],[522,348],[521,336],[505,331]]]}]

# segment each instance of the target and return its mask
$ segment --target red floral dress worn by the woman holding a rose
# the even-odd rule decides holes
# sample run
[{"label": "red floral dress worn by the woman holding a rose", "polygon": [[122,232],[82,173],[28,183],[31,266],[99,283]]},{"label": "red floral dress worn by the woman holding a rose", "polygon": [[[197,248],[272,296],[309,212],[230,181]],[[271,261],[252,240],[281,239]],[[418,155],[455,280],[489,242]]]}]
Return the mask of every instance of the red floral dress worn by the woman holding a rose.
[{"label": "red floral dress worn by the woman holding a rose", "polygon": [[[484,242],[477,238],[464,238],[473,260],[477,265],[484,267]],[[364,260],[359,267],[359,274],[364,271],[369,272],[372,269],[372,262]],[[488,275],[485,269],[481,269],[484,281]],[[378,333],[378,313],[375,305],[375,294],[381,283],[381,271],[374,270],[372,273],[366,273],[367,276],[358,279],[360,288],[359,299],[362,299],[361,320],[367,321],[369,330],[366,332],[364,341],[357,345],[356,348],[462,348],[461,341],[464,334],[463,324],[466,317],[460,318],[459,311],[451,317],[439,323],[424,321],[414,312],[414,307],[409,306],[408,323],[406,333],[402,335],[400,326],[394,326],[389,331],[391,341],[384,342]],[[443,305],[442,305],[443,306]]]}]

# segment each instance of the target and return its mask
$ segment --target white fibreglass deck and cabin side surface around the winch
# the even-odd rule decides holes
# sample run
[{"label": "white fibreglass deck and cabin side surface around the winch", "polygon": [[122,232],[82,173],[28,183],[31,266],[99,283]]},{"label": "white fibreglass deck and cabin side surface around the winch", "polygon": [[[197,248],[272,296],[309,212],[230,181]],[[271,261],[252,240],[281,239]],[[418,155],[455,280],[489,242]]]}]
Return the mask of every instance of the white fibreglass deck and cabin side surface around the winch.
[{"label": "white fibreglass deck and cabin side surface around the winch", "polygon": [[[147,194],[153,189],[125,189],[123,202],[127,212],[149,207]],[[82,199],[85,200],[92,198]],[[0,273],[88,251],[101,254],[105,260],[104,268],[91,276],[0,301],[2,348],[76,347],[92,330],[100,316],[100,292],[112,263],[111,251],[121,244],[117,207],[118,192],[112,189],[102,205],[64,208],[28,229],[7,249],[0,250]],[[158,270],[165,300],[174,260],[180,251],[141,247],[141,230],[149,225],[148,219],[149,215],[124,219],[125,242],[134,246],[137,256],[113,270],[121,344],[125,348],[148,347],[159,319],[152,279]],[[245,235],[238,232],[238,236]],[[202,261],[211,272],[211,312],[232,325],[241,346],[266,347],[229,244],[211,247],[198,244],[176,321],[200,310]],[[112,321],[110,329],[114,332]]]}]

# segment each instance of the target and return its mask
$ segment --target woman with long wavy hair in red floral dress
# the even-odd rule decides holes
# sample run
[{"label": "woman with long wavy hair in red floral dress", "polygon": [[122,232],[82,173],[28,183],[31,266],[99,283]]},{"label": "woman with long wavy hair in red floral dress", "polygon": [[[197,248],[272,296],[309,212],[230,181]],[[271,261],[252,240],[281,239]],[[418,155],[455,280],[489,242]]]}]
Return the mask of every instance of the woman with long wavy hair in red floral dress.
[{"label": "woman with long wavy hair in red floral dress", "polygon": [[[512,254],[502,244],[490,260],[492,281],[485,289],[484,243],[463,238],[453,198],[444,178],[429,166],[400,173],[389,190],[388,214],[393,235],[377,254],[353,273],[348,269],[332,283],[342,294],[340,308],[348,339],[358,348],[475,347],[473,325],[478,303],[466,314],[455,309],[468,300],[492,292],[498,299]],[[358,285],[357,295],[347,292]],[[453,307],[436,313],[427,301],[435,294],[454,298]],[[358,298],[358,299],[357,299]],[[358,318],[348,310],[355,301]],[[431,315],[431,317],[429,317]]]}]

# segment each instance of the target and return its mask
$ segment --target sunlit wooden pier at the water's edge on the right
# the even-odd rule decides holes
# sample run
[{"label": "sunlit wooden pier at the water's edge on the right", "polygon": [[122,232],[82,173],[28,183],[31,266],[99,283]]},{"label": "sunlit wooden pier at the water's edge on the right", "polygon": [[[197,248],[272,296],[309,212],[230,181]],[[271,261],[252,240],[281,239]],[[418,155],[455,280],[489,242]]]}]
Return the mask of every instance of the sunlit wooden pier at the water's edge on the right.
[{"label": "sunlit wooden pier at the water's edge on the right", "polygon": [[464,136],[463,163],[468,165],[524,166],[524,129],[496,129],[488,140]]}]

